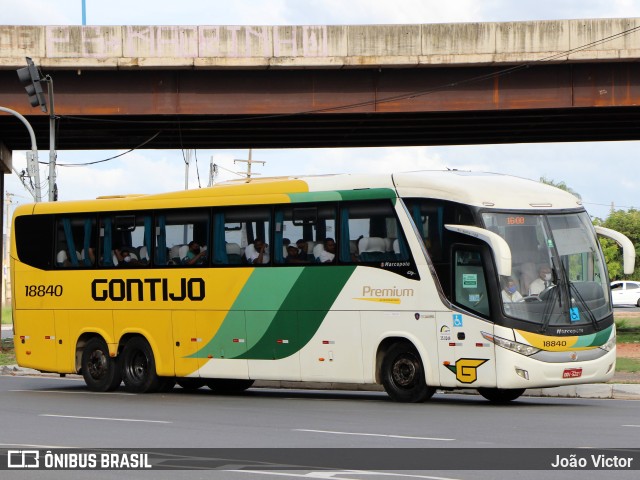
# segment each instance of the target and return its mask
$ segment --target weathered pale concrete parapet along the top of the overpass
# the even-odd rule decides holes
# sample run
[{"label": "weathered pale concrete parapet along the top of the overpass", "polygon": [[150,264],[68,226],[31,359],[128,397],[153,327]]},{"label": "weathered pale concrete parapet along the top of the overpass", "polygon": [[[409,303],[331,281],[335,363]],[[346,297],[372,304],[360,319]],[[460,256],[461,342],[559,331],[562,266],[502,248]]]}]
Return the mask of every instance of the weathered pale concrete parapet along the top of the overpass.
[{"label": "weathered pale concrete parapet along the top of the overpass", "polygon": [[[611,36],[616,37],[593,44]],[[0,26],[0,69],[24,66],[25,56],[40,67],[56,69],[616,61],[640,58],[640,19],[368,26]]]}]

